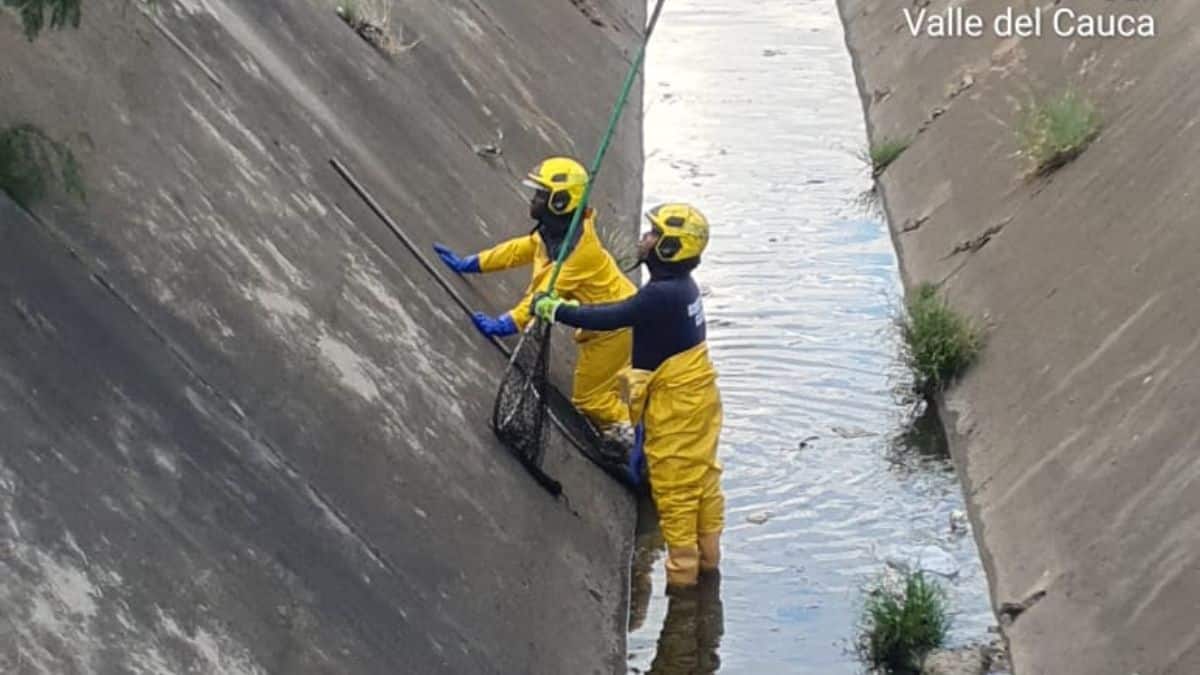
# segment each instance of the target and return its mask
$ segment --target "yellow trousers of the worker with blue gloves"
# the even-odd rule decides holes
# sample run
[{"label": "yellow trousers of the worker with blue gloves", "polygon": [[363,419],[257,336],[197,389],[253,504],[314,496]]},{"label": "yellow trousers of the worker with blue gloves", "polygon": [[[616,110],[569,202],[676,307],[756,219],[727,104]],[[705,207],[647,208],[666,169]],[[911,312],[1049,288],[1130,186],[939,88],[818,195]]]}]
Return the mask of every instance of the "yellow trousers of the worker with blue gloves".
[{"label": "yellow trousers of the worker with blue gloves", "polygon": [[606,333],[580,330],[575,341],[578,359],[571,402],[598,428],[629,424],[629,407],[620,398],[620,374],[629,369],[634,331],[629,328]]}]

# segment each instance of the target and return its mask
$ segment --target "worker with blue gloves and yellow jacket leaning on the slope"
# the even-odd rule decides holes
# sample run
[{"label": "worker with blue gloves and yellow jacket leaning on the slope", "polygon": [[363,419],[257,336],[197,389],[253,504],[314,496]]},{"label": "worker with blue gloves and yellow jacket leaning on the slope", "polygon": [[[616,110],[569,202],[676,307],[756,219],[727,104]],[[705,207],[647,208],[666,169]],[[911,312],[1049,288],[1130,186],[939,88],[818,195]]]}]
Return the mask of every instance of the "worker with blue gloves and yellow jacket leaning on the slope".
[{"label": "worker with blue gloves and yellow jacket leaning on the slope", "polygon": [[[566,241],[571,219],[583,201],[587,183],[588,172],[583,165],[570,157],[550,157],[534,167],[524,180],[524,185],[534,190],[529,216],[536,226],[529,234],[468,257],[458,257],[442,244],[433,245],[442,261],[458,274],[486,274],[533,265],[529,287],[510,311],[494,318],[475,312],[473,321],[485,336],[514,335],[533,319],[530,299],[550,285],[560,246],[566,246],[568,255],[556,283],[559,297],[588,304],[616,303],[637,291],[601,245],[593,209],[583,214],[575,237]],[[630,331],[577,330],[575,341],[578,358],[571,401],[595,424],[606,441],[628,449],[634,434],[629,408],[622,401],[618,376],[629,366]]]}]

